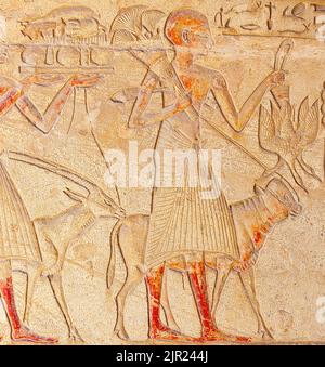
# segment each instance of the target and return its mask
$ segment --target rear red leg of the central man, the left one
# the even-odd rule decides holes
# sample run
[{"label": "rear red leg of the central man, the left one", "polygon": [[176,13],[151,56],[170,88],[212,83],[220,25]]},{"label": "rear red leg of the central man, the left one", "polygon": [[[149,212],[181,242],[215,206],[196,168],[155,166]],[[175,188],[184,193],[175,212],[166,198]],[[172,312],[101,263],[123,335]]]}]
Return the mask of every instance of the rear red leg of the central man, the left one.
[{"label": "rear red leg of the central man, the left one", "polygon": [[190,341],[191,337],[170,329],[160,320],[160,297],[165,264],[151,270],[146,276],[150,303],[150,338]]}]

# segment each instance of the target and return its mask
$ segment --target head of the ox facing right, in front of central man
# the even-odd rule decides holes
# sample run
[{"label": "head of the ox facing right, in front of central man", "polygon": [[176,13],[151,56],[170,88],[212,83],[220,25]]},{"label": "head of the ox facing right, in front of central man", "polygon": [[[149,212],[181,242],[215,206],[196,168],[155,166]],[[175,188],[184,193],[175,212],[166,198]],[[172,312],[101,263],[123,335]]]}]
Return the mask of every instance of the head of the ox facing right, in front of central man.
[{"label": "head of the ox facing right, in front of central man", "polygon": [[298,196],[292,193],[289,184],[286,184],[280,179],[272,179],[268,183],[265,189],[256,185],[255,192],[258,196],[265,194],[266,192],[270,193],[290,215],[298,215],[301,213],[302,206],[299,204]]}]

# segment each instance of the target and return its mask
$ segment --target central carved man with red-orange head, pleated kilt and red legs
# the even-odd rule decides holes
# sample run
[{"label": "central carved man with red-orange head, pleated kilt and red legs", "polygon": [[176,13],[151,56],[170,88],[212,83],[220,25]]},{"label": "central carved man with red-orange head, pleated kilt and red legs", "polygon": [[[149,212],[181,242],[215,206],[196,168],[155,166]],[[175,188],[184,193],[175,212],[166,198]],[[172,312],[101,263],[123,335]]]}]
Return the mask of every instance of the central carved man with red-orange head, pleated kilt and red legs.
[{"label": "central carved man with red-orange head, pleated kilt and red legs", "polygon": [[[174,11],[167,19],[166,36],[176,49],[172,62],[174,75],[171,74],[174,79],[168,81],[160,78],[157,68],[159,61],[156,60],[143,80],[129,121],[129,128],[162,121],[156,142],[158,150],[194,149],[198,154],[203,146],[199,110],[209,92],[212,92],[227,123],[234,130],[242,131],[265,92],[284,81],[283,71],[271,73],[237,109],[224,77],[218,70],[196,63],[196,56],[206,54],[212,45],[206,16],[188,9]],[[152,93],[159,82],[167,83],[169,88],[181,83],[185,93],[179,87],[174,88],[174,94],[166,93],[165,107],[159,113],[148,113]],[[193,114],[193,110],[198,114]],[[238,258],[239,251],[224,194],[219,187],[218,197],[203,199],[200,194],[204,189],[199,186],[190,187],[185,178],[182,187],[155,187],[153,191],[145,254],[145,263],[150,268],[146,284],[150,292],[151,338],[193,340],[168,328],[160,320],[161,280],[165,266],[168,266],[188,273],[202,323],[200,341],[247,340],[223,333],[211,316],[203,255],[210,252]]]}]

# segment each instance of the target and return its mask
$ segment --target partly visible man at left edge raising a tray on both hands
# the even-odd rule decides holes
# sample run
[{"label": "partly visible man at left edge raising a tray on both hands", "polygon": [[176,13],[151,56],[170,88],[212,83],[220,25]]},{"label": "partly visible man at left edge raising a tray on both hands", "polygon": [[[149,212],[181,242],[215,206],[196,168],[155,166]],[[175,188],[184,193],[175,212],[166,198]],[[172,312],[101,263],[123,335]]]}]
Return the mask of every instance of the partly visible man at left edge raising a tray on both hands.
[{"label": "partly visible man at left edge raising a tray on both hands", "polygon": [[[1,44],[0,62],[8,58],[8,49]],[[0,77],[0,116],[3,117],[13,106],[42,133],[49,133],[58,120],[61,113],[75,87],[90,87],[99,81],[98,76],[74,76],[69,78],[55,95],[47,112],[42,115],[27,96],[32,83],[52,84],[61,77],[39,75],[30,76],[18,82],[4,76]],[[26,207],[11,180],[4,165],[0,161],[0,294],[11,325],[13,341],[53,343],[53,338],[44,338],[25,327],[17,314],[11,261],[15,259],[40,259],[34,225]]]}]

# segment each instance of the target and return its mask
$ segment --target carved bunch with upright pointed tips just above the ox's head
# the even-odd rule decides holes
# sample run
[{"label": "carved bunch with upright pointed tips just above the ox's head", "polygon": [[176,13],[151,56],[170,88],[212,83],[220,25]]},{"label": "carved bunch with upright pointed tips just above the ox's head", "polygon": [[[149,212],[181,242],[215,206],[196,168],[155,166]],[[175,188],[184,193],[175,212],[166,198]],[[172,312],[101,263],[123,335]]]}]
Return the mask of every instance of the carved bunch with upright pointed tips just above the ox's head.
[{"label": "carved bunch with upright pointed tips just above the ox's head", "polygon": [[287,165],[296,183],[307,193],[297,163],[310,176],[322,181],[303,157],[303,150],[317,137],[320,130],[318,101],[309,106],[306,97],[299,107],[298,121],[295,123],[295,108],[288,101],[282,101],[280,107],[271,102],[271,113],[261,106],[259,119],[259,140],[263,149],[278,156],[277,165],[264,172],[269,175]]}]

